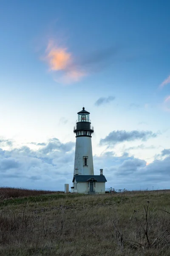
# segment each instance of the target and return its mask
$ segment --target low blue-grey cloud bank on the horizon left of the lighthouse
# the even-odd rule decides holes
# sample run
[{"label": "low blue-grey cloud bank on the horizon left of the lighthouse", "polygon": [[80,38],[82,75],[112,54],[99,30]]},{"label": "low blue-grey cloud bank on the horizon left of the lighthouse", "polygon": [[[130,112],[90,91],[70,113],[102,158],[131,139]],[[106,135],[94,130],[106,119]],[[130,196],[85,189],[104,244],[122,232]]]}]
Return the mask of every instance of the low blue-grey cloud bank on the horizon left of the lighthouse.
[{"label": "low blue-grey cloud bank on the horizon left of the lighthouse", "polygon": [[37,150],[0,149],[0,186],[64,190],[64,183],[72,181],[74,147],[73,142],[51,138]]}]

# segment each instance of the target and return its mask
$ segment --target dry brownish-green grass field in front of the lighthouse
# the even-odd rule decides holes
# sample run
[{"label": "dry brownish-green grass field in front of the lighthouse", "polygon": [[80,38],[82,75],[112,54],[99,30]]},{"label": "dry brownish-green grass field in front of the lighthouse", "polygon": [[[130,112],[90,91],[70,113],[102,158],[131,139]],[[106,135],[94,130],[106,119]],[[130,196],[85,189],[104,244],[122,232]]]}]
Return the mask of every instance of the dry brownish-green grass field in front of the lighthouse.
[{"label": "dry brownish-green grass field in front of the lighthouse", "polygon": [[169,256],[170,191],[1,195],[0,256],[41,255]]}]

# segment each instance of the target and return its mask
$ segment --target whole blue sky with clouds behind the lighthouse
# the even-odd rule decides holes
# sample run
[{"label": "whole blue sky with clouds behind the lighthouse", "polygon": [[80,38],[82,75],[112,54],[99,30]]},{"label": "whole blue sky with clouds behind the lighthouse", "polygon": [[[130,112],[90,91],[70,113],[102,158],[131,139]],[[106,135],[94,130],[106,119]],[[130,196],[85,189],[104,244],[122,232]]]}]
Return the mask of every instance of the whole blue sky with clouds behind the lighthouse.
[{"label": "whole blue sky with clouds behind the lighthouse", "polygon": [[170,188],[169,9],[0,0],[0,186],[71,186],[84,106],[106,188]]}]

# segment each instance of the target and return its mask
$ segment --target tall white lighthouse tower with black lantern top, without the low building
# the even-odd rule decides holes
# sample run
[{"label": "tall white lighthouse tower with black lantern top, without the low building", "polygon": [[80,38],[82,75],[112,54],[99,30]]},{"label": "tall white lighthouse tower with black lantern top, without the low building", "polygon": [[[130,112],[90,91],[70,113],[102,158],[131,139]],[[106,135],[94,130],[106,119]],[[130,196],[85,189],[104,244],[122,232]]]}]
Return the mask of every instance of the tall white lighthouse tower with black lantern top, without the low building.
[{"label": "tall white lighthouse tower with black lantern top, without the low building", "polygon": [[77,114],[78,120],[74,126],[74,133],[76,134],[74,175],[94,175],[91,145],[91,135],[94,133],[94,128],[89,119],[90,113],[83,107],[82,111]]}]

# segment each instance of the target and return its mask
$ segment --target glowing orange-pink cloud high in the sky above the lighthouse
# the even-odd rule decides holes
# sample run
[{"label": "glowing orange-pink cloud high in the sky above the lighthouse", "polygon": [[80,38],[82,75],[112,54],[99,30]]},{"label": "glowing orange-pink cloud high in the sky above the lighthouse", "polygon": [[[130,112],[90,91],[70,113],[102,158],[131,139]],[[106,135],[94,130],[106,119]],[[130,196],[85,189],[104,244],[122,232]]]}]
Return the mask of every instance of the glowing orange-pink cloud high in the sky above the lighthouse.
[{"label": "glowing orange-pink cloud high in the sky above the lighthouse", "polygon": [[67,48],[57,47],[54,41],[48,43],[45,60],[51,71],[62,71],[62,75],[54,79],[57,82],[67,84],[77,82],[86,75],[85,72],[75,67],[73,56]]}]

